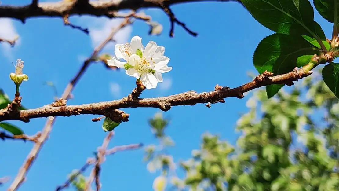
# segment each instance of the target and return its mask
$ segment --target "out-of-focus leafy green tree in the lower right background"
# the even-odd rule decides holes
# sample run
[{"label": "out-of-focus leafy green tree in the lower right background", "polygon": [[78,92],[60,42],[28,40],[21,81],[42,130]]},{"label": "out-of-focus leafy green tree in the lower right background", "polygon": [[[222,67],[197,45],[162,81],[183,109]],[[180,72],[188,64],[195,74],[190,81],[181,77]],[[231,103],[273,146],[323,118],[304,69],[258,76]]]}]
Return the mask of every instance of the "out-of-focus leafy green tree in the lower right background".
[{"label": "out-of-focus leafy green tree in the lower right background", "polygon": [[339,103],[320,75],[267,99],[259,90],[237,121],[236,147],[203,135],[180,165],[179,190],[339,190]]}]

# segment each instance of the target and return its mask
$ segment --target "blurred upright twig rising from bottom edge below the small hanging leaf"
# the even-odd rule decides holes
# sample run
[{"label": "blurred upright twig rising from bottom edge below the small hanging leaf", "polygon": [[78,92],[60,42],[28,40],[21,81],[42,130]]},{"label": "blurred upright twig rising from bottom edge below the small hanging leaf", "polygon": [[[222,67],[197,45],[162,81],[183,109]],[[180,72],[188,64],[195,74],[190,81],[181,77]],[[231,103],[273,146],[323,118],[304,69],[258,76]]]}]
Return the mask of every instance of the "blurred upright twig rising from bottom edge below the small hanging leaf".
[{"label": "blurred upright twig rising from bottom edge below the small hanging leaf", "polygon": [[105,157],[105,150],[108,146],[109,141],[112,139],[114,135],[114,131],[111,131],[107,134],[106,138],[104,139],[102,146],[100,147],[100,149],[98,149],[98,153],[97,153],[97,161],[95,163],[95,166],[93,167],[93,170],[91,171],[91,174],[89,175],[89,178],[86,182],[84,191],[88,191],[89,188],[91,188],[91,184],[94,181],[94,178],[96,179],[96,186],[97,186],[97,191],[99,191],[100,189],[100,181],[99,181],[99,176],[100,176],[100,165],[104,160]]}]

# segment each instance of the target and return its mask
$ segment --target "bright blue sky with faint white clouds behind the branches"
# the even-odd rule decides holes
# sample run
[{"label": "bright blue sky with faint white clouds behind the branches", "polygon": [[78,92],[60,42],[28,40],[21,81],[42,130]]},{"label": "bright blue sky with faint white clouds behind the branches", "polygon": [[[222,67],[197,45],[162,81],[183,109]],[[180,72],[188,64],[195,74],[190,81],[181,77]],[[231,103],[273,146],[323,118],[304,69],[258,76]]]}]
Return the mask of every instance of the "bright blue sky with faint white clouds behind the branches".
[{"label": "bright blue sky with faint white clouds behind the branches", "polygon": [[[23,5],[29,2],[2,0],[2,4]],[[175,37],[170,38],[168,17],[161,10],[152,8],[144,10],[163,25],[161,36],[149,36],[148,25],[136,21],[133,27],[126,28],[115,38],[118,42],[127,42],[138,35],[143,38],[144,45],[153,40],[165,47],[165,56],[171,59],[168,66],[172,66],[173,70],[163,75],[164,82],[157,89],[144,91],[141,97],[166,96],[190,90],[207,92],[212,91],[216,84],[234,88],[251,80],[247,72],[256,72],[252,65],[253,52],[262,38],[272,34],[270,30],[257,23],[240,4],[234,2],[186,3],[172,6],[172,9],[178,19],[199,34],[198,37],[190,36],[177,25]],[[318,13],[315,13],[315,20],[330,37],[331,23]],[[70,21],[89,27],[91,35],[64,26],[61,18],[28,19],[25,24],[17,20],[0,20],[0,37],[20,36],[14,48],[0,45],[0,88],[10,98],[14,97],[15,86],[8,75],[14,71],[12,62],[15,63],[16,59],[24,60],[24,73],[29,76],[29,80],[20,87],[22,104],[27,108],[41,107],[51,103],[54,96],[52,89],[43,85],[44,81],[53,81],[60,96],[79,70],[83,59],[92,53],[94,45],[120,22],[90,16],[75,16]],[[114,54],[113,47],[114,44],[110,44],[103,52]],[[73,91],[74,99],[69,100],[68,104],[118,99],[129,94],[134,86],[135,79],[123,71],[109,71],[101,63],[92,64],[77,84]],[[248,97],[227,98],[226,103],[213,104],[210,109],[204,104],[197,104],[173,107],[164,112],[165,117],[172,119],[166,133],[176,143],[176,147],[168,150],[175,161],[190,157],[192,149],[200,147],[204,132],[219,134],[222,139],[235,144],[239,136],[234,131],[236,121],[241,113],[248,111],[245,106]],[[139,142],[145,145],[156,143],[147,120],[159,110],[127,108],[124,111],[130,114],[129,122],[122,123],[116,129],[109,147]],[[92,122],[93,117],[59,117],[20,190],[54,190],[65,181],[67,174],[80,168],[102,144],[106,135],[101,129],[102,122]],[[42,118],[32,119],[29,123],[13,123],[26,134],[33,135],[43,128],[45,121]],[[33,144],[18,140],[6,140],[0,144],[0,177],[11,176],[11,181],[0,187],[0,190],[5,190]],[[143,149],[108,156],[102,165],[102,191],[152,190],[153,180],[159,174],[149,173],[142,157]]]}]

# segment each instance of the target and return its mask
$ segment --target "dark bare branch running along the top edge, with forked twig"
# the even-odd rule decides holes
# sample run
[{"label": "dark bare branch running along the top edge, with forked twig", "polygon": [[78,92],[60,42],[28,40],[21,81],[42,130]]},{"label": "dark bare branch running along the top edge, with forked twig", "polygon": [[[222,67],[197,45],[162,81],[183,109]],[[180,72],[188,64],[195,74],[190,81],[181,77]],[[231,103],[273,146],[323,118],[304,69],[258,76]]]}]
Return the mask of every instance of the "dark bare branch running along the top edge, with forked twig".
[{"label": "dark bare branch running along the top edge, with forked twig", "polygon": [[[23,23],[28,18],[32,17],[64,17],[65,14],[71,15],[93,15],[93,16],[106,16],[109,18],[121,17],[117,14],[118,11],[123,9],[137,10],[139,8],[146,7],[159,7],[162,8],[171,20],[171,36],[174,32],[174,23],[181,25],[188,33],[193,36],[197,34],[189,30],[184,23],[180,22],[173,14],[170,5],[187,2],[198,1],[223,1],[223,2],[239,2],[240,0],[100,0],[100,1],[88,1],[88,0],[75,0],[75,1],[58,1],[58,2],[44,2],[37,4],[37,1],[33,1],[32,4],[25,6],[0,6],[0,18],[9,17],[21,20]],[[35,2],[35,4],[34,4]],[[165,5],[165,6],[164,6]],[[143,19],[135,17],[137,19]],[[71,25],[70,25],[71,26]],[[80,28],[75,26],[76,28]]]}]

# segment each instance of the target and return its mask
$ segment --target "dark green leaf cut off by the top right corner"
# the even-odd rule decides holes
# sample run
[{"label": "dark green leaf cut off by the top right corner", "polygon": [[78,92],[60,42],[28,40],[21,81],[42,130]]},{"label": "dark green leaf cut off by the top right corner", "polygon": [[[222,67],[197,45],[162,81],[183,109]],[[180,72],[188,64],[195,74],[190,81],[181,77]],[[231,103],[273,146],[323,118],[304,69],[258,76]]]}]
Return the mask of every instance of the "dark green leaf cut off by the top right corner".
[{"label": "dark green leaf cut off by the top right corner", "polygon": [[339,1],[338,0],[313,0],[319,14],[328,22],[338,23],[339,19]]}]

